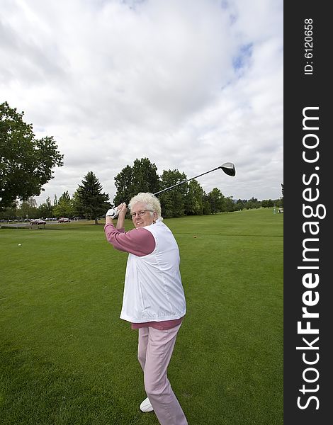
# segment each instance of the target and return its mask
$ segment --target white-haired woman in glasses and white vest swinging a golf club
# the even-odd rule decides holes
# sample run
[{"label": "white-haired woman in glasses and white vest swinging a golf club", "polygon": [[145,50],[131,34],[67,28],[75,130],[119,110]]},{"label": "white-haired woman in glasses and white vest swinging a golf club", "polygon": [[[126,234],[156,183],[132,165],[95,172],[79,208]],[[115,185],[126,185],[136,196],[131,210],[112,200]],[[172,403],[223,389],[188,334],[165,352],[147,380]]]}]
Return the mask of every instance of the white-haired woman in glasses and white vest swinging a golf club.
[{"label": "white-haired woman in glasses and white vest swinging a golf club", "polygon": [[147,393],[140,409],[154,410],[161,425],[186,425],[166,376],[186,313],[179,248],[171,230],[162,222],[161,205],[152,193],[134,196],[129,208],[135,229],[125,232],[128,209],[122,203],[118,206],[116,227],[112,212],[111,216],[107,212],[104,230],[115,249],[129,253],[120,318],[130,322],[132,329],[139,329],[137,357]]}]

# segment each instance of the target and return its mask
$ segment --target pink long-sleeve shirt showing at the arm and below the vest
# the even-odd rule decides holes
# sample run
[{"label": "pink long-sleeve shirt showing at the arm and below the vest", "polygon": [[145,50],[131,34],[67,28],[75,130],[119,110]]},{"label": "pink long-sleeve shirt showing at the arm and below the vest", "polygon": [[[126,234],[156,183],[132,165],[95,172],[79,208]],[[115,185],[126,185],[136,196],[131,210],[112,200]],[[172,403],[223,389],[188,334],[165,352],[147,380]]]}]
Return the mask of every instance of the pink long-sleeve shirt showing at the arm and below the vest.
[{"label": "pink long-sleeve shirt showing at the arm and below the vest", "polygon": [[[115,249],[124,252],[130,252],[136,256],[145,256],[152,254],[155,249],[155,239],[149,230],[145,228],[132,229],[125,232],[125,228],[115,229],[113,224],[104,226],[106,240],[114,246]],[[159,330],[171,329],[181,324],[183,318],[175,320],[165,320],[163,322],[145,322],[132,323],[132,329],[141,327],[153,327]]]}]

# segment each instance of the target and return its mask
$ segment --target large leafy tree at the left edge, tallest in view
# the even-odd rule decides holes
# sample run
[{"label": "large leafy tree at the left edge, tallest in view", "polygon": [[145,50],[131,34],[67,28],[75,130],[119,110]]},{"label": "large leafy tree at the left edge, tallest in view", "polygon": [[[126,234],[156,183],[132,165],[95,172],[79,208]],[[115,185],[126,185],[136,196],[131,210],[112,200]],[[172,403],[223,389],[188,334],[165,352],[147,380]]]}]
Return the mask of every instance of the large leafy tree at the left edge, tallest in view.
[{"label": "large leafy tree at the left edge, tallest in view", "polygon": [[53,137],[37,139],[23,114],[7,102],[0,104],[0,209],[16,198],[40,195],[42,186],[53,179],[52,168],[63,165]]}]

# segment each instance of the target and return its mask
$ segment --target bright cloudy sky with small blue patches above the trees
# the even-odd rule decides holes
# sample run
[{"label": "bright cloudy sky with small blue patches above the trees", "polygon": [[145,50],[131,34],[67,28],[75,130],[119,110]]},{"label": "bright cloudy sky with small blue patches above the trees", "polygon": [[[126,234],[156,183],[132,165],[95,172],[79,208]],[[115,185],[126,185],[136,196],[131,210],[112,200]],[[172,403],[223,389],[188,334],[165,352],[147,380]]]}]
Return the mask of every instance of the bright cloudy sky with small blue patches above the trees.
[{"label": "bright cloudy sky with small blue patches above the trees", "polygon": [[0,0],[0,103],[53,136],[64,166],[36,197],[148,157],[208,193],[283,183],[283,0]]}]

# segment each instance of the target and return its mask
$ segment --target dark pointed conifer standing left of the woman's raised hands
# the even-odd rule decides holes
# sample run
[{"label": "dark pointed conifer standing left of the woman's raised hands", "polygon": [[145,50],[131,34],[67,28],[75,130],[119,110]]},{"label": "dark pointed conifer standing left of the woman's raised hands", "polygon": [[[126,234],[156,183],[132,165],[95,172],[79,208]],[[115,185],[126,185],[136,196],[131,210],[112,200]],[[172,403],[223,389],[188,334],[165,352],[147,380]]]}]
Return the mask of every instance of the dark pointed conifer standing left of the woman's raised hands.
[{"label": "dark pointed conifer standing left of the woman's raised hands", "polygon": [[108,203],[108,193],[101,193],[101,191],[102,185],[92,171],[84,176],[82,185],[79,185],[77,189],[79,203],[84,215],[89,220],[95,220],[96,225],[98,224],[98,216],[104,215],[111,207],[111,204]]}]

